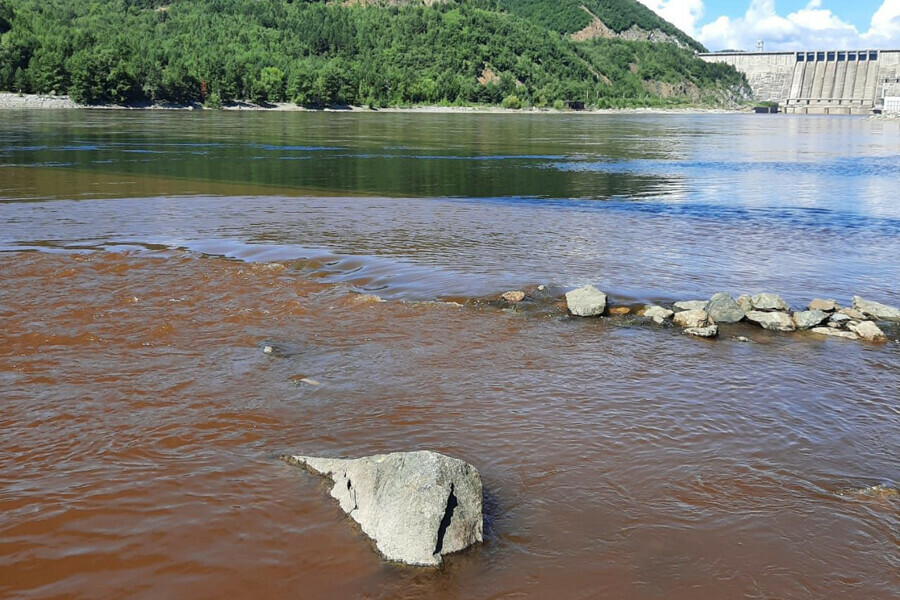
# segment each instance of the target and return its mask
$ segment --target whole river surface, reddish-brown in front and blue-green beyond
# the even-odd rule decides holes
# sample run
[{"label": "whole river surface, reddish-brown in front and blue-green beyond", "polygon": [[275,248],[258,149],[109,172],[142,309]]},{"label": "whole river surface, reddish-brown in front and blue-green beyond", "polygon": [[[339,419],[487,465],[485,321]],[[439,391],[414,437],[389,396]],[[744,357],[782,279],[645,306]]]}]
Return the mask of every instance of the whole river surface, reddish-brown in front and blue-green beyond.
[{"label": "whole river surface, reddish-brown in front and blue-green beyond", "polygon": [[[884,125],[12,114],[0,595],[900,595],[900,504],[847,493],[900,480],[900,345],[420,302],[592,281],[898,304]],[[749,149],[723,166],[735,130]],[[188,143],[220,145],[124,152]],[[277,459],[425,448],[487,489],[485,543],[439,570],[383,562]]]}]

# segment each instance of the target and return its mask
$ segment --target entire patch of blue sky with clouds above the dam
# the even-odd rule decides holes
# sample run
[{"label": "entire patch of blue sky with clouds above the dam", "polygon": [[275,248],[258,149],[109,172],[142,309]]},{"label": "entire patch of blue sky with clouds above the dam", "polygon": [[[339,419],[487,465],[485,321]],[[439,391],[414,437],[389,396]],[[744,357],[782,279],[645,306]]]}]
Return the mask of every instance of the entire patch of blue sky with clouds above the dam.
[{"label": "entire patch of blue sky with clouds above the dam", "polygon": [[638,0],[710,50],[900,49],[900,0]]}]

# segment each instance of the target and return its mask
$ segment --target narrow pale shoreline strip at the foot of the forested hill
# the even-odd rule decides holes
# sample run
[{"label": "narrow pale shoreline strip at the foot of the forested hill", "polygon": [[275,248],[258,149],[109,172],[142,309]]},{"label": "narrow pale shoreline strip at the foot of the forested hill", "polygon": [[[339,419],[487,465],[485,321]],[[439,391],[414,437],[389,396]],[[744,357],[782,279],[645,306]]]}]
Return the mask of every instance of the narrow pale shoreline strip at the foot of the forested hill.
[{"label": "narrow pale shoreline strip at the foot of the forested hill", "polygon": [[633,107],[633,108],[597,108],[585,110],[558,110],[555,108],[503,108],[500,106],[407,106],[368,108],[364,106],[339,106],[325,108],[307,108],[292,102],[273,104],[253,104],[250,102],[229,102],[219,109],[204,108],[200,104],[148,104],[148,105],[91,105],[79,104],[68,96],[51,96],[45,94],[18,94],[0,92],[0,111],[4,110],[167,110],[167,111],[252,111],[252,112],[334,112],[334,113],[422,113],[422,114],[510,114],[510,115],[549,115],[549,114],[750,114],[749,107],[718,108],[704,106],[678,107]]}]

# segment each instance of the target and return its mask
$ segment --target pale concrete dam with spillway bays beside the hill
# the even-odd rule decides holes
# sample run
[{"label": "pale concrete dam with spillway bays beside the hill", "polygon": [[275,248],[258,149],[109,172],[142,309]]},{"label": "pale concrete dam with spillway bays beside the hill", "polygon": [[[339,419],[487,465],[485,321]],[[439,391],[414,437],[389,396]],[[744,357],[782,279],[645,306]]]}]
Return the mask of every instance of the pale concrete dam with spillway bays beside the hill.
[{"label": "pale concrete dam with spillway bays beside the hill", "polygon": [[[746,75],[754,99],[786,113],[867,115],[900,96],[900,50],[700,54]],[[892,100],[889,100],[889,103]]]}]

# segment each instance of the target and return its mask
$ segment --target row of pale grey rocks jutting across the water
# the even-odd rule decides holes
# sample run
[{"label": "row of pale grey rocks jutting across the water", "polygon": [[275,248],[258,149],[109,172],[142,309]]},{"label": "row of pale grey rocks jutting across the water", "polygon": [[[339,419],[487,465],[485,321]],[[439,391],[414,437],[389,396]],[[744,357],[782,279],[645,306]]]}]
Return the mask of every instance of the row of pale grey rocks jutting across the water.
[{"label": "row of pale grey rocks jutting across the water", "polygon": [[[539,288],[543,289],[543,288]],[[527,298],[522,291],[509,291],[501,296],[508,304]],[[609,307],[609,296],[592,285],[565,294],[565,307],[576,317],[622,315],[632,312],[627,306]],[[900,308],[853,296],[852,306],[843,307],[835,300],[813,299],[805,310],[792,311],[781,296],[761,293],[741,295],[736,299],[718,292],[709,300],[675,302],[671,306],[647,305],[634,312],[651,323],[675,325],[686,335],[716,338],[720,324],[748,323],[768,331],[811,331],[814,334],[886,342],[888,337],[877,323],[900,323]],[[746,338],[738,337],[740,341]]]}]

